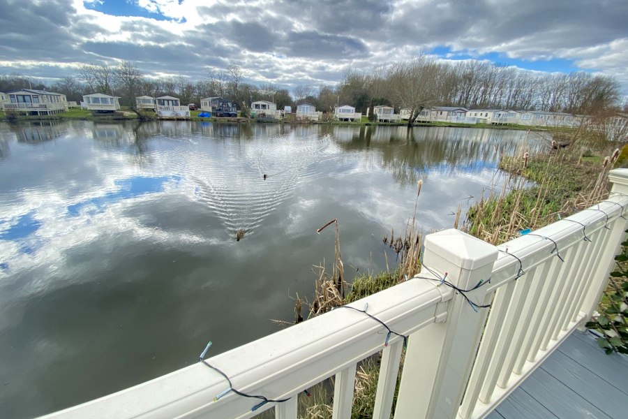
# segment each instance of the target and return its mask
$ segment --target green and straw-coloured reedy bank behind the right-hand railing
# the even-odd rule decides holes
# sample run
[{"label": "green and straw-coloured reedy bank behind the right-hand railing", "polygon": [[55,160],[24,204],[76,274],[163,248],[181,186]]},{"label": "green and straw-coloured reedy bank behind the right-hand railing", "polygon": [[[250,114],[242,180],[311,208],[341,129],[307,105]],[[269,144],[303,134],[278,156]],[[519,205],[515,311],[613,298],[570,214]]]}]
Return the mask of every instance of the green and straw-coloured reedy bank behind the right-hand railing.
[{"label": "green and straw-coloured reedy bank behind the right-hand railing", "polygon": [[506,176],[501,188],[493,185],[488,196],[482,194],[468,210],[463,229],[498,244],[521,230],[536,230],[604,199],[608,171],[619,151],[604,161],[583,157],[578,151],[559,149],[536,156],[526,152],[518,158],[503,158],[500,169]]}]

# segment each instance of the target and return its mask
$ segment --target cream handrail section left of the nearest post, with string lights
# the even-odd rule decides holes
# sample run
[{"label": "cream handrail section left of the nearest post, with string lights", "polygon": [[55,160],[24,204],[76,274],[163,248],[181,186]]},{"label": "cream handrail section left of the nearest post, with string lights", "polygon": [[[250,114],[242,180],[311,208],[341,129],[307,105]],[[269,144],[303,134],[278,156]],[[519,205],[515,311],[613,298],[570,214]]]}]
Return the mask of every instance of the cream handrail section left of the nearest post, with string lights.
[{"label": "cream handrail section left of the nearest post, with string lights", "polygon": [[[446,318],[446,302],[453,293],[427,281],[411,279],[353,304],[384,321],[391,330],[408,335]],[[438,308],[438,309],[437,309]],[[365,314],[336,309],[304,323],[281,330],[207,362],[230,376],[238,390],[262,394],[269,399],[291,397],[336,374],[348,365],[384,348],[386,329]],[[401,341],[392,336],[389,344]],[[199,352],[202,348],[199,348]],[[211,350],[210,350],[211,352]],[[190,360],[195,358],[190,353]],[[153,418],[194,418],[211,412],[211,417],[244,418],[255,412],[259,402],[225,395],[212,400],[228,387],[220,374],[202,363],[161,376],[133,388],[81,404],[46,418],[134,418],[151,413]]]}]

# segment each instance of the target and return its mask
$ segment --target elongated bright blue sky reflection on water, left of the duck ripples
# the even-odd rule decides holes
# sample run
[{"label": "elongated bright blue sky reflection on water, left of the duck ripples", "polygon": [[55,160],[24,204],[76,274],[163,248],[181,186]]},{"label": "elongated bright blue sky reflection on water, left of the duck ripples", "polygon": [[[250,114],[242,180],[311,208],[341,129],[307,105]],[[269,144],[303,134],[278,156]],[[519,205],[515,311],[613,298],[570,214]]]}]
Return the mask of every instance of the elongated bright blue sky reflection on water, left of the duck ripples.
[{"label": "elongated bright blue sky reflection on water, left of the duck ripples", "polygon": [[135,198],[145,193],[162,192],[166,182],[174,180],[179,182],[180,176],[160,176],[160,177],[129,177],[128,179],[117,180],[114,182],[119,190],[115,192],[105,193],[103,196],[89,198],[79,203],[68,206],[70,215],[77,216],[84,207],[96,207],[96,211],[103,211],[104,207],[113,203],[117,203],[124,199]]}]

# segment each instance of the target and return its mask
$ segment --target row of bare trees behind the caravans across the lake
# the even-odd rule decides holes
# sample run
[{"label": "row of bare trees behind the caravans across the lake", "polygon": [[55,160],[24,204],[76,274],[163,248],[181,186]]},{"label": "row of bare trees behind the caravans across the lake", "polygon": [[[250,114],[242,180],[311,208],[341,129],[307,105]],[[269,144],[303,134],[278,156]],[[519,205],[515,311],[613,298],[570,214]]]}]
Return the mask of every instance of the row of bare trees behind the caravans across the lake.
[{"label": "row of bare trees behind the caravans across the lake", "polygon": [[[238,108],[257,100],[273,101],[278,109],[307,102],[322,111],[349,104],[363,113],[375,105],[390,105],[411,110],[410,123],[422,109],[436,105],[594,115],[618,109],[621,97],[617,80],[605,75],[583,71],[537,75],[485,61],[449,63],[426,55],[368,71],[348,69],[338,84],[303,84],[292,91],[272,83],[247,83],[244,75],[243,68],[230,64],[225,69],[210,68],[201,80],[182,75],[152,78],[132,61],[118,61],[114,66],[82,64],[75,75],[50,86],[38,82],[31,87],[51,89],[77,102],[86,93],[114,94],[129,106],[140,95],[176,96],[181,103],[223,96]],[[27,86],[29,80],[23,76],[0,75],[0,91]]]}]

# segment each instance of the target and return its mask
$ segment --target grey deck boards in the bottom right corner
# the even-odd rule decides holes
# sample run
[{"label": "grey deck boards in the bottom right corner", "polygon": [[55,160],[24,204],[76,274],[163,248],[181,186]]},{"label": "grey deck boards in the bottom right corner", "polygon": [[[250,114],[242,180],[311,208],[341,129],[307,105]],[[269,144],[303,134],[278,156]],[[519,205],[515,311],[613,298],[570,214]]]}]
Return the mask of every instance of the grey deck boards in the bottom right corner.
[{"label": "grey deck boards in the bottom right corner", "polygon": [[628,418],[628,357],[576,331],[487,418]]}]

